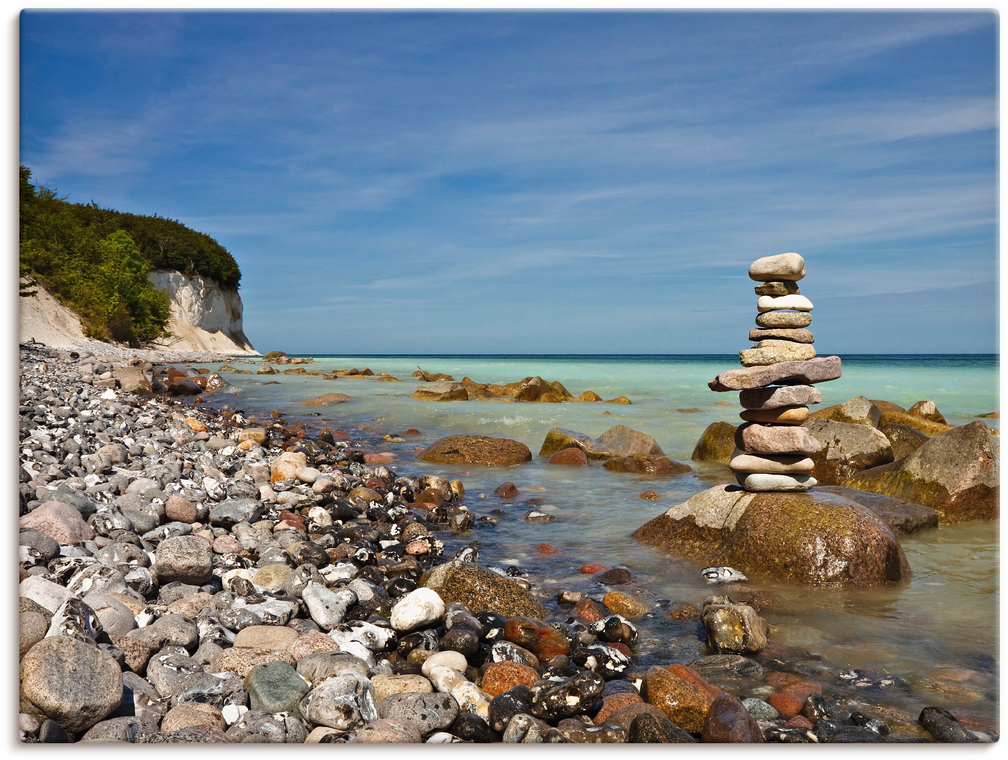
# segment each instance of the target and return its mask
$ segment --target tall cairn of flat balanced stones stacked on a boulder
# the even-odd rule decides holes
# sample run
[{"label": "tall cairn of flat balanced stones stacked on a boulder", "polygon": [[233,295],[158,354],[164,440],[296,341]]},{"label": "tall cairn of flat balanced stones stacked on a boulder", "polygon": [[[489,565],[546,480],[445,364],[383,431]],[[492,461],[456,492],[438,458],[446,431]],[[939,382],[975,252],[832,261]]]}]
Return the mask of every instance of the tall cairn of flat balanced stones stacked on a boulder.
[{"label": "tall cairn of flat balanced stones stacked on a boulder", "polygon": [[823,400],[813,383],[836,380],[840,357],[816,357],[811,301],[798,291],[805,260],[796,253],[757,259],[749,267],[759,298],[756,345],[739,352],[743,369],[722,372],[711,390],[739,391],[745,420],[735,433],[730,467],[746,491],[806,491],[815,485],[809,455],[820,444],[801,423],[808,405]]}]

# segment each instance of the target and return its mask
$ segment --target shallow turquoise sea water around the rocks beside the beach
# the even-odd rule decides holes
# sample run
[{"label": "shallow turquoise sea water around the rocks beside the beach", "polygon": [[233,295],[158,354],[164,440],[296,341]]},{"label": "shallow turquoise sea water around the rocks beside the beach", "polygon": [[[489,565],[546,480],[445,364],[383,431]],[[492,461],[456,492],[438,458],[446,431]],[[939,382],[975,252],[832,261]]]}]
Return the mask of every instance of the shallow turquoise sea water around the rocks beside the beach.
[{"label": "shallow turquoise sea water around the rocks beside the beach", "polygon": [[[409,394],[418,386],[410,377],[418,364],[428,372],[448,373],[457,380],[468,375],[477,382],[504,383],[540,375],[559,380],[575,395],[594,390],[606,399],[626,395],[633,404],[417,401]],[[707,425],[738,420],[737,395],[707,388],[707,381],[719,371],[737,366],[734,357],[316,357],[307,369],[365,366],[403,382],[228,373],[224,376],[239,396],[215,398],[248,413],[275,408],[290,421],[329,424],[352,435],[361,434],[360,425],[366,426],[369,436],[419,429],[419,435],[404,436],[406,442],[379,439],[376,449],[396,456],[393,470],[461,478],[467,490],[465,503],[477,514],[494,508],[504,511],[496,529],[447,540],[448,556],[479,538],[482,561],[517,564],[547,592],[600,591],[579,568],[601,561],[630,567],[636,582],[629,588],[644,590],[641,593],[651,601],[688,601],[699,606],[714,593],[699,578],[698,565],[628,536],[668,507],[730,481],[726,467],[690,463],[690,474],[650,478],[610,473],[599,463],[588,469],[547,468],[544,460],[533,456],[531,463],[515,468],[456,468],[420,462],[413,449],[454,432],[479,432],[521,440],[535,455],[550,427],[595,436],[622,423],[653,435],[669,457],[688,462]],[[269,381],[277,384],[266,385]],[[844,357],[844,377],[818,387],[823,406],[858,394],[904,407],[927,398],[951,424],[963,424],[998,409],[998,362],[991,356]],[[328,407],[299,405],[332,391],[347,393],[353,400]],[[985,422],[997,427],[999,420]],[[505,480],[521,491],[514,502],[493,496],[493,489]],[[647,489],[659,492],[661,498],[640,499]],[[479,498],[480,494],[487,498]],[[545,524],[525,522],[522,515],[528,507],[520,502],[529,497],[541,498],[538,508],[556,519]],[[543,542],[556,547],[557,553],[538,552],[535,547]],[[759,590],[772,600],[761,612],[772,626],[772,643],[757,659],[769,664],[779,657],[796,663],[828,690],[861,695],[869,704],[893,707],[914,718],[922,707],[938,705],[955,709],[958,715],[996,721],[998,524],[942,526],[903,536],[901,543],[913,578],[899,587],[851,591],[750,583],[730,590],[729,594]],[[696,621],[671,621],[659,609],[641,628],[642,664],[689,662],[708,653]],[[872,682],[852,685],[840,677],[850,668],[863,671]]]}]

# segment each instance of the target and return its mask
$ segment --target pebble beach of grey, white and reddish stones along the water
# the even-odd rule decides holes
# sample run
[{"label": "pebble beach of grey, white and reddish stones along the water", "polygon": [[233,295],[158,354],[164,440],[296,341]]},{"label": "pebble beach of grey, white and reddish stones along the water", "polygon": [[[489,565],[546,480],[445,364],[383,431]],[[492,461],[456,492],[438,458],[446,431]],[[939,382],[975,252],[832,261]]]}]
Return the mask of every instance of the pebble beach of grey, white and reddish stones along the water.
[{"label": "pebble beach of grey, white and reddish stones along the water", "polygon": [[[665,613],[695,618],[708,654],[645,667],[655,610],[629,569],[544,598],[521,568],[480,562],[469,537],[493,515],[465,506],[464,483],[392,472],[364,437],[166,395],[157,372],[116,387],[145,359],[232,357],[119,356],[20,351],[24,742],[998,738],[839,693],[767,648],[760,600],[736,584]],[[607,444],[551,434],[541,456]],[[469,542],[448,556],[449,537]]]}]

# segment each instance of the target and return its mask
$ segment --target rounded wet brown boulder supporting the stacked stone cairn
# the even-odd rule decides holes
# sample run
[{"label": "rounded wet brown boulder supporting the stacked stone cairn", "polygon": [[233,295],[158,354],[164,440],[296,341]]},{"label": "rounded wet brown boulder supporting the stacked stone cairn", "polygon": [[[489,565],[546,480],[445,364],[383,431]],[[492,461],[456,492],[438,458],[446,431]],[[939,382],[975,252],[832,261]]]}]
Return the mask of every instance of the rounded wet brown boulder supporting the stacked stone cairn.
[{"label": "rounded wet brown boulder supporting the stacked stone cairn", "polygon": [[715,486],[638,528],[633,537],[750,578],[881,586],[910,566],[871,509],[831,493],[747,493]]}]

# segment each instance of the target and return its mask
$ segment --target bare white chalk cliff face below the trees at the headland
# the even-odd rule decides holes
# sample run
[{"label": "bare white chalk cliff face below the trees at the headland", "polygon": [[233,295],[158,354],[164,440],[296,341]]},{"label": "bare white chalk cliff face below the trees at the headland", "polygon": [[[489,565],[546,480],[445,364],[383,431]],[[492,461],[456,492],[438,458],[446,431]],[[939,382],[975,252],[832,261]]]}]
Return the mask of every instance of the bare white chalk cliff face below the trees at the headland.
[{"label": "bare white chalk cliff face below the trees at the headland", "polygon": [[155,269],[147,278],[171,298],[165,342],[176,350],[257,354],[242,331],[242,299],[212,279]]}]

